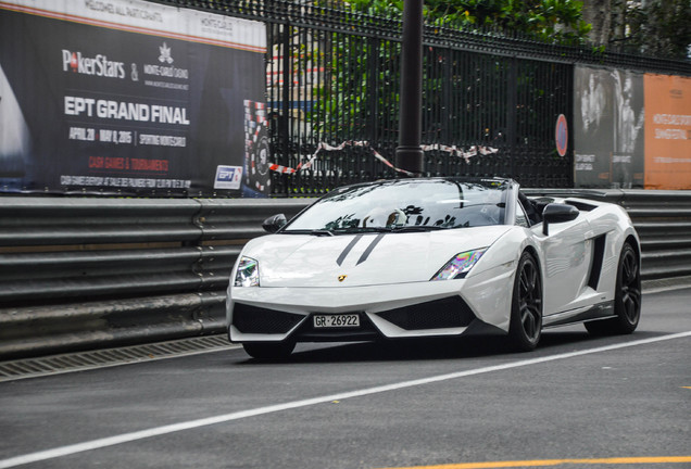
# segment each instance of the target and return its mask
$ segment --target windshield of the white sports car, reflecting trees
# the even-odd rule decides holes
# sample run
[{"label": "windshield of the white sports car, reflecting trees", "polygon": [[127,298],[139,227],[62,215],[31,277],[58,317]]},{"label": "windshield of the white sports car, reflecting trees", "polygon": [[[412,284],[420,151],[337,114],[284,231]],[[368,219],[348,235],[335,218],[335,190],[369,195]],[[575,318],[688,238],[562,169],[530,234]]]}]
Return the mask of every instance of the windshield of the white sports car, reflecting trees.
[{"label": "windshield of the white sports car, reflecting trees", "polygon": [[502,225],[506,189],[500,179],[441,178],[346,187],[319,199],[282,232],[405,232]]}]

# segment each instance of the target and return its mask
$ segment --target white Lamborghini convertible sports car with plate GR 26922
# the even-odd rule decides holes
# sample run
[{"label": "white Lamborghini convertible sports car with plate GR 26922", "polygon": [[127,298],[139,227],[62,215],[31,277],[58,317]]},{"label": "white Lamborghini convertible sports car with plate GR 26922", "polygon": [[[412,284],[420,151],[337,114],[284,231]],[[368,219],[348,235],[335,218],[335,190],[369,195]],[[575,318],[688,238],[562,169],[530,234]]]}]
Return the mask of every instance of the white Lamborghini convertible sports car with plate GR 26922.
[{"label": "white Lamborghini convertible sports car with plate GR 26922", "polygon": [[624,208],[528,198],[511,179],[348,186],[264,229],[226,305],[230,341],[255,358],[297,342],[476,333],[530,351],[543,328],[630,333],[640,317],[640,243]]}]

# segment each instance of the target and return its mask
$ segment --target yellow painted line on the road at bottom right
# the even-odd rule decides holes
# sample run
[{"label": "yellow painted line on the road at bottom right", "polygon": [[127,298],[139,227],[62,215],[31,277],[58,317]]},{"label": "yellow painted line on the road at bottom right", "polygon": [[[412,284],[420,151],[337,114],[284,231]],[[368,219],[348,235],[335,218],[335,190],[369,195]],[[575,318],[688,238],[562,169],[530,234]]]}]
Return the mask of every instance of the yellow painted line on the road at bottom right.
[{"label": "yellow painted line on the road at bottom right", "polygon": [[598,459],[536,459],[516,461],[487,461],[487,462],[461,462],[438,466],[411,466],[388,469],[495,469],[495,468],[523,468],[561,465],[630,465],[630,464],[680,464],[691,462],[691,456],[655,456],[655,457],[618,457]]}]

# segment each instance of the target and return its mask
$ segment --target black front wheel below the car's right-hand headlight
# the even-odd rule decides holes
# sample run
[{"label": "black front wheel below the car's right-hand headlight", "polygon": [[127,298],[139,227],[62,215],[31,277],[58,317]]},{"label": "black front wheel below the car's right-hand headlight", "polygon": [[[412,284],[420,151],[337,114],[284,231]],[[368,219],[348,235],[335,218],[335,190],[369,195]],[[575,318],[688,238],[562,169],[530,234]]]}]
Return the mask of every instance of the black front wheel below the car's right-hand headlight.
[{"label": "black front wheel below the car's right-hand headlight", "polygon": [[516,268],[508,340],[520,352],[535,350],[542,335],[542,279],[537,259],[524,252]]}]

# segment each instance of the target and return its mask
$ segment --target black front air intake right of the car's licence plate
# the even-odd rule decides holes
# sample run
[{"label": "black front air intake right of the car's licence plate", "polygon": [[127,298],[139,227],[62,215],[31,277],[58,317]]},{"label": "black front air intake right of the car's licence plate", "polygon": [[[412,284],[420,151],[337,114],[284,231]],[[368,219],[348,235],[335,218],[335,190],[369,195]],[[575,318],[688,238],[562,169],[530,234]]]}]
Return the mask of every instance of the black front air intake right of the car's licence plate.
[{"label": "black front air intake right of the car's licence plate", "polygon": [[460,296],[390,309],[378,316],[405,330],[466,327],[475,319]]}]

